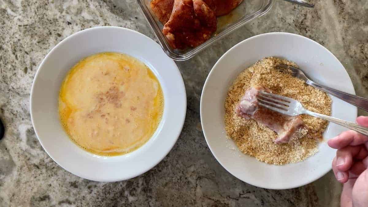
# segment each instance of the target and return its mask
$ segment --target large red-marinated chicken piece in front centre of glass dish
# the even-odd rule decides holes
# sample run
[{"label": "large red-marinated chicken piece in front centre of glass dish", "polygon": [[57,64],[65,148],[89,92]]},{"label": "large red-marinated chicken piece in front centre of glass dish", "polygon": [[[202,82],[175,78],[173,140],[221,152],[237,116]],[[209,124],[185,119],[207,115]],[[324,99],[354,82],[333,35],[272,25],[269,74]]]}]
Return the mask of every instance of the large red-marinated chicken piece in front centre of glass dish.
[{"label": "large red-marinated chicken piece in front centre of glass dish", "polygon": [[215,12],[202,0],[175,0],[162,30],[174,49],[198,46],[217,29]]}]

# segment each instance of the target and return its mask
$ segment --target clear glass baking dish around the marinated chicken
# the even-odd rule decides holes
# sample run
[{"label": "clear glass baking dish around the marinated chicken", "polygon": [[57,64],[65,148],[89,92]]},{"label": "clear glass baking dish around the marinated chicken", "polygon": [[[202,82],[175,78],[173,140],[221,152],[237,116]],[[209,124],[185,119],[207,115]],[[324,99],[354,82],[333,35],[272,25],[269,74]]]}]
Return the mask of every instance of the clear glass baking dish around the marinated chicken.
[{"label": "clear glass baking dish around the marinated chicken", "polygon": [[151,0],[136,0],[139,8],[147,18],[155,35],[165,53],[174,60],[183,61],[195,56],[199,51],[207,48],[212,43],[223,38],[235,29],[247,24],[256,17],[266,14],[272,7],[272,0],[243,0],[243,2],[231,11],[230,14],[217,18],[217,31],[206,42],[195,48],[177,50],[170,47],[162,34],[163,25],[153,14],[150,6]]}]

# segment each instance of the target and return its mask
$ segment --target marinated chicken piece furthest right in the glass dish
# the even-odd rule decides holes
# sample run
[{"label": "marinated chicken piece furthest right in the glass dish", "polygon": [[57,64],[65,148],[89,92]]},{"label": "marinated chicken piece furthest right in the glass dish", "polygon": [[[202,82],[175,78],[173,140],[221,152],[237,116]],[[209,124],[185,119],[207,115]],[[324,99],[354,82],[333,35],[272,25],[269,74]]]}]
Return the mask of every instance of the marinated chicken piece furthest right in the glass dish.
[{"label": "marinated chicken piece furthest right in the glass dish", "polygon": [[215,11],[216,16],[229,14],[243,0],[204,0],[204,2]]}]

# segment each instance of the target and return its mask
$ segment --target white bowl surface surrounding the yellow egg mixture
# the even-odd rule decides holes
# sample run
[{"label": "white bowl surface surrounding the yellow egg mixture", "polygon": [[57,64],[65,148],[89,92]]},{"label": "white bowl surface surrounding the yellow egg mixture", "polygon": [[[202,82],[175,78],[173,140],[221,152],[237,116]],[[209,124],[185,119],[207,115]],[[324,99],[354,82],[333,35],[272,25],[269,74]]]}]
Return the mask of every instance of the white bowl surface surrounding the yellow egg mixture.
[{"label": "white bowl surface surrounding the yellow egg mixture", "polygon": [[[146,144],[126,155],[100,157],[86,152],[70,140],[60,124],[61,82],[79,60],[100,52],[136,57],[156,74],[162,86],[164,113],[158,129]],[[95,27],[64,39],[42,61],[31,90],[31,118],[38,140],[57,164],[85,179],[112,182],[148,171],[169,153],[184,124],[186,101],[176,64],[156,42],[130,29]]]}]

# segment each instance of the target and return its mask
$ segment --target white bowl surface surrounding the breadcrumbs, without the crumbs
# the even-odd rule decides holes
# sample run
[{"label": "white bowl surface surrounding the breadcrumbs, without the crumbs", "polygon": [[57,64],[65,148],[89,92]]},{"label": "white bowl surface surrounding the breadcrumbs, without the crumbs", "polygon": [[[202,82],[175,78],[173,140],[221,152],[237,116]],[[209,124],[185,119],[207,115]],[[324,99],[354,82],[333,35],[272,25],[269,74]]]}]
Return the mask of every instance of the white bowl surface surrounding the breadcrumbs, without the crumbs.
[{"label": "white bowl surface surrounding the breadcrumbs, without the crumbs", "polygon": [[[244,182],[268,189],[290,189],[313,182],[330,171],[336,151],[323,141],[317,154],[304,162],[269,165],[240,152],[232,140],[226,140],[224,130],[224,101],[229,86],[241,71],[268,56],[296,62],[318,83],[350,94],[355,91],[346,70],[331,52],[295,34],[276,32],[246,39],[227,51],[213,66],[201,97],[202,128],[212,154],[227,171]],[[335,97],[332,101],[333,117],[355,122],[355,106]],[[327,140],[344,130],[347,129],[330,123],[323,137]]]}]

